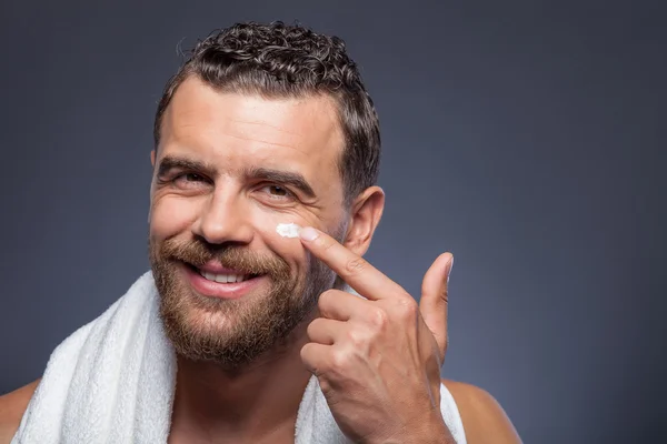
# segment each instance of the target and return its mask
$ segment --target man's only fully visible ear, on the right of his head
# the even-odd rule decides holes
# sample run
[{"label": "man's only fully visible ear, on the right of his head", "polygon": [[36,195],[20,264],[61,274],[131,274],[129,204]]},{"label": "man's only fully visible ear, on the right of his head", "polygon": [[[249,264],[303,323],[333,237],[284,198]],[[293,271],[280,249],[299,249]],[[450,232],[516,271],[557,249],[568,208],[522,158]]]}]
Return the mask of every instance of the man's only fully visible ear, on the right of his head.
[{"label": "man's only fully visible ear, on the right of his head", "polygon": [[367,188],[351,205],[350,221],[344,244],[360,256],[366,254],[385,210],[385,192],[379,186]]}]

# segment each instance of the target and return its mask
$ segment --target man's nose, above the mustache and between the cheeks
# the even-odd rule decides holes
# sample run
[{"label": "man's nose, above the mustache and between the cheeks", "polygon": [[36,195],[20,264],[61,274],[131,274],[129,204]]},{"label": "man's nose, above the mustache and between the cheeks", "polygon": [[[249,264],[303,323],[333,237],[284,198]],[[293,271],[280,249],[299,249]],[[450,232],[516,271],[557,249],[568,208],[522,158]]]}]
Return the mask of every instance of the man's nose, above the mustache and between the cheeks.
[{"label": "man's nose, above the mustache and between the cheeks", "polygon": [[248,244],[252,241],[253,230],[242,199],[230,191],[220,190],[207,199],[192,224],[192,233],[210,244]]}]

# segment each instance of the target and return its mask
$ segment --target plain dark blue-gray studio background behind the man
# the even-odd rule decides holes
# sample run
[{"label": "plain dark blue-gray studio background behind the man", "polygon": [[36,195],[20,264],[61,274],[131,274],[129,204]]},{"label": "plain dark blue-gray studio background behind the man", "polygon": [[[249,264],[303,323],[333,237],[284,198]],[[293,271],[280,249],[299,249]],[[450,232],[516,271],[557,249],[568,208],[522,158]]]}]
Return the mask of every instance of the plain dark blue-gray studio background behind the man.
[{"label": "plain dark blue-gray studio background behind the man", "polygon": [[380,113],[368,258],[417,294],[456,255],[444,375],[494,394],[527,443],[658,442],[665,8],[485,3],[3,1],[0,393],[147,270],[177,44],[298,19],[347,40]]}]

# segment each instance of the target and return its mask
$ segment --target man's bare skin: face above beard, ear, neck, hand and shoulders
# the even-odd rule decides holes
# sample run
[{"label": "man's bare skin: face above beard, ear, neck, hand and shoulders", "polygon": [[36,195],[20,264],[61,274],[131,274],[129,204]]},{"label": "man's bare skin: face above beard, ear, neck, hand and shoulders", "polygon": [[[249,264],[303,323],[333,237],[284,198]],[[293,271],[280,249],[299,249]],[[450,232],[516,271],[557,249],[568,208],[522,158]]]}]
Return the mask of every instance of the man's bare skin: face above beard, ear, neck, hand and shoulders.
[{"label": "man's bare skin: face above beard, ear, neck, hand and shoulders", "polygon": [[[219,93],[192,78],[177,90],[161,134],[151,154],[158,167],[151,185],[153,241],[201,236],[213,244],[242,244],[280,255],[295,279],[318,258],[366,297],[322,293],[287,347],[266,353],[242,372],[180,359],[169,442],[293,442],[297,408],[312,374],[339,426],[355,441],[454,442],[437,408],[452,256],[441,254],[426,273],[420,305],[362,259],[385,195],[371,186],[349,210],[344,208],[336,167],[344,139],[334,102],[327,97],[269,100]],[[167,157],[208,165],[195,171],[207,180],[178,175],[193,171],[171,171],[169,181],[159,180]],[[298,172],[313,195],[248,178],[242,172],[250,167]],[[312,231],[283,239],[275,232],[280,222]],[[341,226],[339,242],[328,233]],[[472,385],[444,382],[469,443],[520,442],[492,396]],[[38,383],[0,397],[0,443],[16,433]]]}]

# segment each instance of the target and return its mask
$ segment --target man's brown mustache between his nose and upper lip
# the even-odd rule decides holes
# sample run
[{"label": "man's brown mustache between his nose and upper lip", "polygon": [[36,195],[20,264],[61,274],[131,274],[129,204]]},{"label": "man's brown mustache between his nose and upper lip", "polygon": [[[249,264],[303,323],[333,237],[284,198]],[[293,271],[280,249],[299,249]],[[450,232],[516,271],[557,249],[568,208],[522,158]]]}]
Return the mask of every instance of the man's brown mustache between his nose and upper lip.
[{"label": "man's brown mustache between his nose and upper lip", "polygon": [[259,254],[237,244],[213,245],[200,239],[187,242],[168,239],[160,246],[159,256],[196,268],[213,261],[243,274],[285,276],[290,270],[289,264],[278,255]]}]

